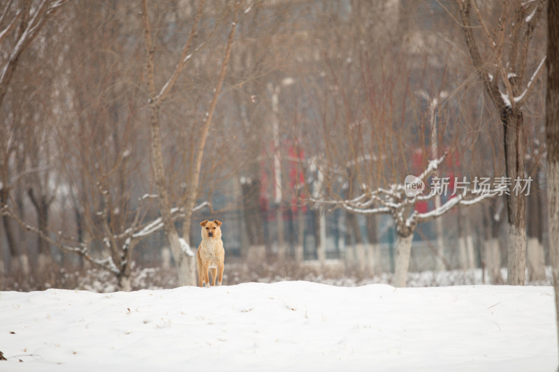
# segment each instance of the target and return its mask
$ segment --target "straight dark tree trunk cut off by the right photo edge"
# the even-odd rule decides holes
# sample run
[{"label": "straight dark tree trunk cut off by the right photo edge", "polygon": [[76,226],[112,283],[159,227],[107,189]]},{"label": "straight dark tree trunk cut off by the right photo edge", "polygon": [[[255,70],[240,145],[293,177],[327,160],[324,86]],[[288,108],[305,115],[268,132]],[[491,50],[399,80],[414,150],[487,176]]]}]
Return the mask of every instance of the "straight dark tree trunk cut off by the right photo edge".
[{"label": "straight dark tree trunk cut off by the right photo edge", "polygon": [[548,1],[547,4],[546,144],[549,252],[559,336],[559,2]]}]

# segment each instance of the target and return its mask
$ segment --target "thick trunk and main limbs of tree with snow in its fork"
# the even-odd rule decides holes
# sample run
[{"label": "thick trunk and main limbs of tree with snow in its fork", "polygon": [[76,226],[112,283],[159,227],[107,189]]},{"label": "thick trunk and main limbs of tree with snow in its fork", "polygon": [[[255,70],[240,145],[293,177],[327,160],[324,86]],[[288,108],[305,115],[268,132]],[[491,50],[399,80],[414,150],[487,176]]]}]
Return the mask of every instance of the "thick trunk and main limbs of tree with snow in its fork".
[{"label": "thick trunk and main limbs of tree with snow in its fork", "polygon": [[[516,6],[521,6],[521,4],[517,3]],[[485,28],[485,24],[482,24],[484,34],[488,38],[487,42],[493,43],[492,47],[500,50],[499,54],[495,56],[496,66],[494,65],[498,73],[493,71],[493,74],[490,74],[488,71],[489,64],[481,57],[476,38],[473,34],[475,27],[472,27],[470,21],[470,8],[474,8],[477,17],[481,19],[479,9],[474,2],[469,0],[458,2],[467,50],[470,52],[470,58],[477,69],[479,79],[483,82],[485,90],[490,96],[493,105],[495,105],[495,109],[500,114],[503,126],[506,176],[509,177],[513,184],[516,177],[524,179],[522,101],[513,100],[512,97],[516,97],[520,93],[519,84],[523,81],[523,66],[526,61],[526,55],[523,52],[518,52],[519,55],[517,56],[516,52],[528,50],[535,22],[537,22],[541,13],[540,4],[536,3],[535,7],[532,13],[533,17],[530,15],[530,20],[526,19],[525,22],[518,25],[518,30],[522,29],[523,31],[523,39],[521,42],[518,41],[516,37],[520,33],[516,32],[514,34],[514,40],[511,41],[513,48],[509,50],[508,59],[504,59],[502,44],[495,45],[491,35],[489,35],[489,31]],[[519,9],[518,14],[521,14]],[[514,75],[511,75],[511,73],[514,73]],[[500,85],[504,85],[506,88],[504,93],[500,91]],[[525,87],[527,90],[528,88],[528,86]],[[515,195],[512,190],[510,190],[509,194],[506,197],[508,211],[507,248],[509,252],[507,283],[523,285],[526,266],[525,197],[521,193]]]}]

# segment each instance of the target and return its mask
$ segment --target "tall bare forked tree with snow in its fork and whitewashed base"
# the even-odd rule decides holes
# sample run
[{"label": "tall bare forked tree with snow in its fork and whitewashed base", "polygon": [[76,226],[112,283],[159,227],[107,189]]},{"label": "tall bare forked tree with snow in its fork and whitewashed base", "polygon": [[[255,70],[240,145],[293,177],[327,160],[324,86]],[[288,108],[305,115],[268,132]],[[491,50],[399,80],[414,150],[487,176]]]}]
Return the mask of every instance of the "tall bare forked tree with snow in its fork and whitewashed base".
[{"label": "tall bare forked tree with snow in its fork and whitewashed base", "polygon": [[[522,106],[542,72],[545,57],[537,61],[531,75],[528,66],[533,61],[530,42],[541,18],[544,1],[507,1],[501,8],[495,29],[474,1],[458,0],[461,27],[467,50],[484,89],[500,115],[503,128],[504,163],[507,177],[525,177],[525,145],[523,138]],[[481,36],[474,34],[471,20],[481,28]],[[510,37],[509,37],[510,35]],[[482,57],[479,44],[487,45],[488,55]],[[488,62],[486,62],[488,61]],[[526,266],[525,195],[507,195],[508,271],[507,283],[524,285]]]}]

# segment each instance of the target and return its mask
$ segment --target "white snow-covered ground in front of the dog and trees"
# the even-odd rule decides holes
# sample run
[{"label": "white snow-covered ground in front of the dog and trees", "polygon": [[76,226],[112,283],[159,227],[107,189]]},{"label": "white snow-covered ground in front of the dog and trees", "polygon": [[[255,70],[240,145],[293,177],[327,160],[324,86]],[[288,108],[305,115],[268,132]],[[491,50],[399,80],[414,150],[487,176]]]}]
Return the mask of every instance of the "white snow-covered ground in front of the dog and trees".
[{"label": "white snow-covered ground in front of the dog and trees", "polygon": [[0,371],[556,371],[553,288],[0,292]]}]

